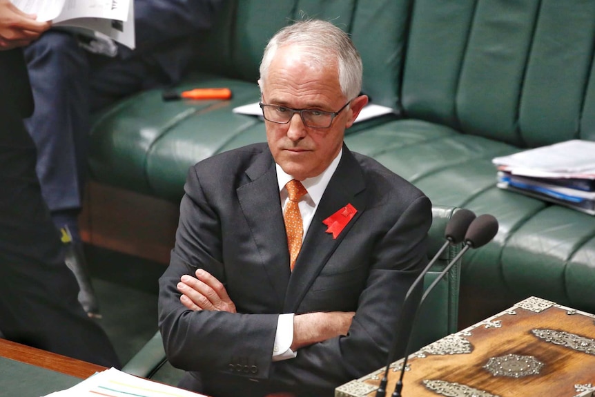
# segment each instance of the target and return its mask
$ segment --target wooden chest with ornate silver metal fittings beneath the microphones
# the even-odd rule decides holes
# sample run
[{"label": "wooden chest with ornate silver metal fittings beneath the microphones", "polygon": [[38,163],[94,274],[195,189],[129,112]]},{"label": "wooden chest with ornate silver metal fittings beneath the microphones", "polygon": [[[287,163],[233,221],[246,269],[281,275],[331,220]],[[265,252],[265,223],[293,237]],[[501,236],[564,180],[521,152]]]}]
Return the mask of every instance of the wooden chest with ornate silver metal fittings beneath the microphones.
[{"label": "wooden chest with ornate silver metal fittings beneath the microphones", "polygon": [[[387,397],[401,366],[389,367]],[[374,397],[384,369],[335,397]],[[411,354],[402,396],[595,396],[595,316],[540,298],[518,302]]]}]

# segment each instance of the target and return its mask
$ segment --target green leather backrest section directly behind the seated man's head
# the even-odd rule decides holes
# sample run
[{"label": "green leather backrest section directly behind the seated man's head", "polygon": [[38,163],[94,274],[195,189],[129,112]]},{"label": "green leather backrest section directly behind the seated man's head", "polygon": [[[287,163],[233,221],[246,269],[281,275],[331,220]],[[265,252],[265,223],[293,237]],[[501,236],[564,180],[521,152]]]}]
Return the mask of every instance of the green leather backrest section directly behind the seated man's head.
[{"label": "green leather backrest section directly behind the seated man's head", "polygon": [[348,32],[364,62],[364,93],[376,104],[397,107],[410,0],[228,1],[215,28],[196,38],[195,65],[202,72],[253,81],[266,43],[292,21],[332,21]]}]

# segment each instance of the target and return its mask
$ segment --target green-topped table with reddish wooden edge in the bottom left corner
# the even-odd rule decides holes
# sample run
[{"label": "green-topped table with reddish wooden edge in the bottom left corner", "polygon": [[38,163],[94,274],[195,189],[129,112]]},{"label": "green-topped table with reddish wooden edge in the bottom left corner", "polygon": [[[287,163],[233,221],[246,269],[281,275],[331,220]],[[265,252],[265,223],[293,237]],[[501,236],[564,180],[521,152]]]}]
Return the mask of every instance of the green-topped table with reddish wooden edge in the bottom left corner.
[{"label": "green-topped table with reddish wooden edge in the bottom left corner", "polygon": [[106,367],[0,339],[0,396],[39,397]]}]

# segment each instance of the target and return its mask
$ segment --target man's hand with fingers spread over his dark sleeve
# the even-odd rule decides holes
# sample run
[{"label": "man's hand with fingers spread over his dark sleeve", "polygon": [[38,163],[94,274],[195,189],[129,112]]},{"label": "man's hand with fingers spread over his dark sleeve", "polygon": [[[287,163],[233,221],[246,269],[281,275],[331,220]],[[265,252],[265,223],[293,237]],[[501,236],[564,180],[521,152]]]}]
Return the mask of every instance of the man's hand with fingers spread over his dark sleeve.
[{"label": "man's hand with fingers spread over his dark sleeve", "polygon": [[182,275],[177,290],[182,293],[180,302],[191,310],[217,310],[235,313],[235,304],[227,295],[223,284],[211,273],[197,269],[196,278]]}]

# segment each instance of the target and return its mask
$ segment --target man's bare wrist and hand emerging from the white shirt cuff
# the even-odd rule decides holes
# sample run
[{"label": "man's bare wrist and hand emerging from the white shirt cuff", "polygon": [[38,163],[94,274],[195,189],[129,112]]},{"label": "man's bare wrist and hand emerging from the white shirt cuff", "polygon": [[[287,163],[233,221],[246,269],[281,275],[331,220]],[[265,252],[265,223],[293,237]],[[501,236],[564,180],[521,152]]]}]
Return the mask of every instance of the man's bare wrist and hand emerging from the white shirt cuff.
[{"label": "man's bare wrist and hand emerging from the white shirt cuff", "polygon": [[294,316],[291,350],[347,335],[354,315],[353,311],[329,311]]}]

